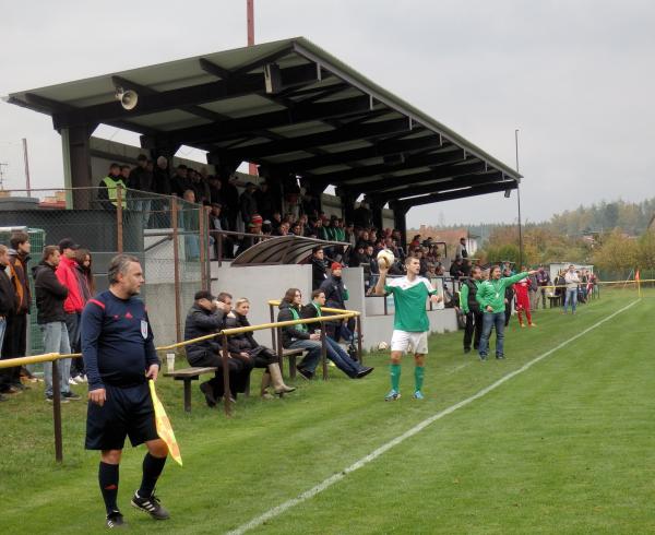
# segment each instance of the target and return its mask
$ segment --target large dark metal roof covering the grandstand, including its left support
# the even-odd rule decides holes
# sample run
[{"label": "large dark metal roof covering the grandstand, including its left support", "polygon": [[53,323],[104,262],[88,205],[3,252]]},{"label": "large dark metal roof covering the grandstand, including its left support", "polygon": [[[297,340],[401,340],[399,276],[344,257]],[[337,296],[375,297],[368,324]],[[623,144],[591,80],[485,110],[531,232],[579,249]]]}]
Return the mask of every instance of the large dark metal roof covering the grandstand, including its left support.
[{"label": "large dark metal roof covering the grandstand, including its left support", "polygon": [[[264,70],[272,72],[269,88]],[[139,94],[134,109],[116,100],[118,86]],[[171,156],[182,144],[199,147],[219,173],[257,163],[265,176],[300,176],[314,194],[334,185],[345,205],[365,193],[374,215],[389,202],[403,219],[412,206],[507,191],[521,179],[303,37],[5,99],[52,116],[66,136],[70,186],[91,186],[84,140],[99,123],[142,133],[142,147],[153,156]]]}]

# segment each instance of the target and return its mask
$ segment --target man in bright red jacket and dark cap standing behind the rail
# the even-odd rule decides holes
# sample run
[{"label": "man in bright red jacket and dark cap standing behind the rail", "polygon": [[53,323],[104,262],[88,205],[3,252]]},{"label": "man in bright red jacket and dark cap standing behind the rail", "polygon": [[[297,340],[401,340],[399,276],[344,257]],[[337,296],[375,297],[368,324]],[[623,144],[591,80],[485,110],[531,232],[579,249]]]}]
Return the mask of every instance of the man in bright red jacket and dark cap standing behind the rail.
[{"label": "man in bright red jacket and dark cap standing behind the rail", "polygon": [[[82,317],[82,309],[84,308],[84,299],[80,294],[80,284],[75,275],[75,251],[78,249],[80,249],[80,246],[71,238],[63,238],[59,242],[61,260],[56,272],[59,282],[69,290],[68,297],[63,301],[63,311],[66,312],[66,328],[73,353],[80,350],[80,319]],[[83,376],[78,371],[76,367],[73,368],[71,366],[70,369],[71,377],[62,378],[62,381],[69,381],[71,384],[84,382]]]}]

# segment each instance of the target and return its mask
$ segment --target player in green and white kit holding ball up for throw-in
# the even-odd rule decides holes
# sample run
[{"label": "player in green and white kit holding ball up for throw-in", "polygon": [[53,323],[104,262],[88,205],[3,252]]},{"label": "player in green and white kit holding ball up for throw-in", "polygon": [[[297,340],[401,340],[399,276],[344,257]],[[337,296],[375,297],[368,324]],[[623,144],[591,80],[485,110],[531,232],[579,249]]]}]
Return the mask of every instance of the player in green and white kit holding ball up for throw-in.
[{"label": "player in green and white kit holding ball up for throw-in", "polygon": [[385,401],[396,401],[401,397],[401,357],[409,345],[414,350],[414,399],[422,400],[421,392],[426,354],[428,353],[428,331],[430,322],[426,313],[426,299],[440,302],[442,297],[432,288],[429,281],[418,276],[420,261],[415,257],[405,260],[407,275],[386,281],[389,268],[380,265],[380,278],[376,285],[376,295],[393,294],[395,316],[393,336],[391,337],[391,391]]}]

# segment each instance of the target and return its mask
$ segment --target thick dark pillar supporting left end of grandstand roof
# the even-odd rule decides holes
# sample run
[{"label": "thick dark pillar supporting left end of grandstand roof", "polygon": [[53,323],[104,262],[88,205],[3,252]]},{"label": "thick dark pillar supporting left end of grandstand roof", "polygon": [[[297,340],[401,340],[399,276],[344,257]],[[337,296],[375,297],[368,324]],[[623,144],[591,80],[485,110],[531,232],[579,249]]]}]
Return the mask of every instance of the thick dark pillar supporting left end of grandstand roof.
[{"label": "thick dark pillar supporting left end of grandstand roof", "polygon": [[63,155],[63,186],[67,188],[67,209],[88,210],[92,197],[90,190],[71,190],[70,188],[91,188],[97,186],[91,175],[91,134],[95,124],[61,129],[61,146]]}]

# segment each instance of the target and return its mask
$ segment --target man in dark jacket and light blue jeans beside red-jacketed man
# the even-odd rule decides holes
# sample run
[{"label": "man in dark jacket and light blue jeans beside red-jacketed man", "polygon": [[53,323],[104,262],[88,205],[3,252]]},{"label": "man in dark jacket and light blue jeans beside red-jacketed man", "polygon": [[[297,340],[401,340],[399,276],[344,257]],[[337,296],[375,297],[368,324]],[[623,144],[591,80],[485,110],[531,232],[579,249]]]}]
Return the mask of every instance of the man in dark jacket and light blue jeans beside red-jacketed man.
[{"label": "man in dark jacket and light blue jeans beside red-jacketed man", "polygon": [[[34,289],[36,293],[37,323],[44,334],[44,352],[71,353],[69,333],[66,325],[66,312],[63,301],[69,295],[69,289],[59,282],[55,270],[60,262],[58,246],[47,246],[40,263],[33,270]],[[69,378],[71,373],[71,359],[57,360],[59,370],[59,388],[61,400],[80,400],[80,396],[71,392]],[[52,362],[44,362],[44,379],[46,381],[46,400],[52,401]]]}]

